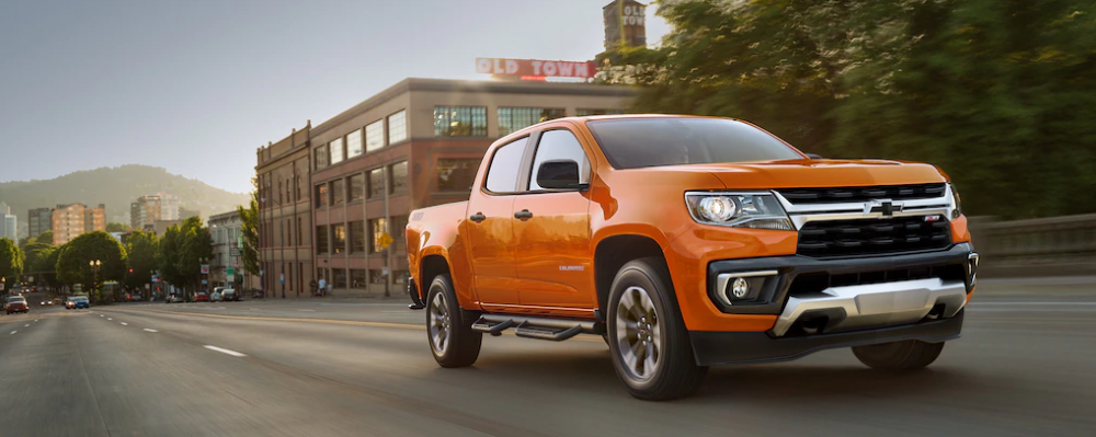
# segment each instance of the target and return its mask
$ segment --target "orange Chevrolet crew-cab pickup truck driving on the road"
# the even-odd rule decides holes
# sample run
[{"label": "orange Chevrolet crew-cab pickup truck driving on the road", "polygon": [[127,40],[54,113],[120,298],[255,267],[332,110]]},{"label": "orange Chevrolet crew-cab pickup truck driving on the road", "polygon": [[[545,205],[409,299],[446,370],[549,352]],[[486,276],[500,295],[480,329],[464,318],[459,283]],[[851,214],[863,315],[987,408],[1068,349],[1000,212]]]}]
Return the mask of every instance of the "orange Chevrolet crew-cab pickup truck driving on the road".
[{"label": "orange Chevrolet crew-cab pickup truck driving on the road", "polygon": [[561,118],[500,139],[468,202],[412,211],[412,309],[442,367],[482,334],[602,335],[635,396],[692,394],[708,366],[852,347],[932,364],[974,290],[939,169],[826,160],[751,124]]}]

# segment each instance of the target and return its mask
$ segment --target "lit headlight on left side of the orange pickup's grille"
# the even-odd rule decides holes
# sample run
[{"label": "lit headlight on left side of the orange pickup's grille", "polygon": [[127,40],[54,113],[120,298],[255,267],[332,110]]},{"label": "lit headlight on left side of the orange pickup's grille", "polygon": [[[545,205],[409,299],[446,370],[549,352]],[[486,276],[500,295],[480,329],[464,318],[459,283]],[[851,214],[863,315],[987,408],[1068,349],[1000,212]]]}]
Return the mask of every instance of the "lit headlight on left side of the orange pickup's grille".
[{"label": "lit headlight on left side of the orange pickup's grille", "polygon": [[788,214],[772,194],[685,193],[689,215],[698,223],[792,231]]}]

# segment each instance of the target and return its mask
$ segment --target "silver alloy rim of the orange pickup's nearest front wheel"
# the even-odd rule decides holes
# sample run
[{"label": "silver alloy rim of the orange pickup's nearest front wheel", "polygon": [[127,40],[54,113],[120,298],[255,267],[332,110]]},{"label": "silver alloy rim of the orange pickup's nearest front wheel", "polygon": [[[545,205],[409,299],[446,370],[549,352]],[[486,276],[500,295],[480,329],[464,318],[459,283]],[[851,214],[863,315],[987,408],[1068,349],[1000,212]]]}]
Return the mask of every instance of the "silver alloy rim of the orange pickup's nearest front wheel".
[{"label": "silver alloy rim of the orange pickup's nearest front wheel", "polygon": [[647,381],[662,356],[662,327],[651,296],[641,287],[624,290],[616,311],[617,354],[628,377]]}]

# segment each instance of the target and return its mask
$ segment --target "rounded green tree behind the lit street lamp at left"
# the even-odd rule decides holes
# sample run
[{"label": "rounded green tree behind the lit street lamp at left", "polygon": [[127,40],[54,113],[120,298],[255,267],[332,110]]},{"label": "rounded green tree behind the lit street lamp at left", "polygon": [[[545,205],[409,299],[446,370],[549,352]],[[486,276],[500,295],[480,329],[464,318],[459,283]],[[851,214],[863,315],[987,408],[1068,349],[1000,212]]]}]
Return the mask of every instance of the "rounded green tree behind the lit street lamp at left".
[{"label": "rounded green tree behind the lit street lamp at left", "polygon": [[99,284],[122,280],[126,268],[126,250],[114,237],[103,231],[84,233],[65,244],[57,258],[57,277],[65,284],[82,284],[84,289],[92,290],[96,274],[89,263],[95,260],[101,263]]}]

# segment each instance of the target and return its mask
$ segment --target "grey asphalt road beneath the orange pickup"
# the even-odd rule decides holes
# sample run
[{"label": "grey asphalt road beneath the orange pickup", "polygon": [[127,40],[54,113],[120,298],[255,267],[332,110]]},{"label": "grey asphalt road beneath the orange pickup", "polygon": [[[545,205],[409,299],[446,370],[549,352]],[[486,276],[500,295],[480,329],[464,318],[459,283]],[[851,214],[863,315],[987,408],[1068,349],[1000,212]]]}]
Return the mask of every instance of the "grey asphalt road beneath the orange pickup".
[{"label": "grey asphalt road beneath the orange pickup", "polygon": [[0,315],[3,436],[1096,435],[1096,287],[977,296],[928,370],[845,350],[631,399],[596,337],[484,338],[442,369],[400,301],[139,303]]}]

